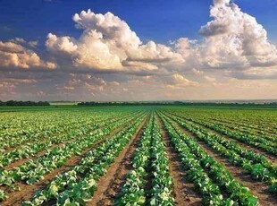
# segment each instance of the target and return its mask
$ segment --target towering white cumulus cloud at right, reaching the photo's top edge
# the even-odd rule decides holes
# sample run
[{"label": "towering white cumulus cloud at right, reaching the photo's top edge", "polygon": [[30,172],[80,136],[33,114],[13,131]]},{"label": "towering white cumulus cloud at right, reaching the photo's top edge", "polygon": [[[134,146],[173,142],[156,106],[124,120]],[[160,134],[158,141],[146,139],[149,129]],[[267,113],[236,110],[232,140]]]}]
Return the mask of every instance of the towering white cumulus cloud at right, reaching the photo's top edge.
[{"label": "towering white cumulus cloud at right, reaching the photo's top edge", "polygon": [[277,64],[277,49],[256,18],[231,0],[214,0],[210,14],[214,20],[199,30],[205,38],[199,46],[203,64],[240,69]]}]

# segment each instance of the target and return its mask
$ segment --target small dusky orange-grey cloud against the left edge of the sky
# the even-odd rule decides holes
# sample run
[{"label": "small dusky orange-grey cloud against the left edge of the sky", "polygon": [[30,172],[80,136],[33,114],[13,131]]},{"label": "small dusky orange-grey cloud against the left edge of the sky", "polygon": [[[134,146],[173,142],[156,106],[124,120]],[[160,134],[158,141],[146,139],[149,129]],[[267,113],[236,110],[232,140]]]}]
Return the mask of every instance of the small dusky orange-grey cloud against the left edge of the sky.
[{"label": "small dusky orange-grey cloud against the left edge of the sky", "polygon": [[43,61],[37,53],[19,44],[24,42],[24,39],[15,39],[7,42],[0,41],[0,65],[23,69],[31,67],[55,69],[56,65],[54,63]]}]

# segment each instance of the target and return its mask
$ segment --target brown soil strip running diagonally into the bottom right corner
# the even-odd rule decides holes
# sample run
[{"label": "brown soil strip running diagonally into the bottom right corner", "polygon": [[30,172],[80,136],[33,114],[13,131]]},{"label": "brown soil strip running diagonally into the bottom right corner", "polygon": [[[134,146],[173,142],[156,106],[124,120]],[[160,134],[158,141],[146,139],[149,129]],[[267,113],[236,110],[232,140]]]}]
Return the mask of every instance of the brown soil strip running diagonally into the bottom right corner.
[{"label": "brown soil strip running diagonally into the bottom right corner", "polygon": [[205,142],[198,141],[195,134],[190,133],[186,129],[179,126],[179,128],[184,132],[187,133],[190,137],[193,137],[199,145],[206,150],[206,152],[213,157],[217,162],[221,163],[224,167],[228,169],[231,175],[238,180],[243,185],[247,186],[251,193],[255,194],[263,206],[274,206],[277,205],[277,197],[274,196],[273,193],[269,193],[267,191],[268,185],[265,185],[262,182],[255,181],[249,176],[241,167],[235,167],[231,165],[228,159],[222,157],[216,151],[212,150]]}]

